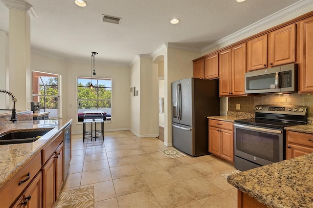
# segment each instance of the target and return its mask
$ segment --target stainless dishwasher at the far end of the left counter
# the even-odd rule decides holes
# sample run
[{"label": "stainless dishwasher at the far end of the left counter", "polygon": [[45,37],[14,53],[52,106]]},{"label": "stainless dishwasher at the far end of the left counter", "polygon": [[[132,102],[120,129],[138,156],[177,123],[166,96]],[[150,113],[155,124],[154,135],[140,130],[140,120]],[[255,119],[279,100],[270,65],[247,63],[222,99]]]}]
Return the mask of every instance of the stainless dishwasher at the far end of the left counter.
[{"label": "stainless dishwasher at the far end of the left counter", "polygon": [[63,164],[64,164],[64,181],[67,178],[67,172],[69,169],[70,159],[71,159],[71,126],[67,125],[63,129],[63,149],[64,149],[64,157],[63,157]]}]

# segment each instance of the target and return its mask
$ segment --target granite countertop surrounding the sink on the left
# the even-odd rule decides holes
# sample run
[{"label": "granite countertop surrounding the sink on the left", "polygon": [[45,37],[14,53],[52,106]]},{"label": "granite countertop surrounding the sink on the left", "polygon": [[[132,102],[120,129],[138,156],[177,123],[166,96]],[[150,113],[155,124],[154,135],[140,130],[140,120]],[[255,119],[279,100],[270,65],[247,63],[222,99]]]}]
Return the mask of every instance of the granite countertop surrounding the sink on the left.
[{"label": "granite countertop surrounding the sink on the left", "polygon": [[0,145],[0,187],[10,180],[25,164],[27,164],[48,141],[55,136],[66,125],[70,124],[72,119],[40,120],[40,121],[18,121],[15,124],[2,122],[0,124],[0,135],[6,132],[37,130],[38,128],[51,130],[32,143]]}]

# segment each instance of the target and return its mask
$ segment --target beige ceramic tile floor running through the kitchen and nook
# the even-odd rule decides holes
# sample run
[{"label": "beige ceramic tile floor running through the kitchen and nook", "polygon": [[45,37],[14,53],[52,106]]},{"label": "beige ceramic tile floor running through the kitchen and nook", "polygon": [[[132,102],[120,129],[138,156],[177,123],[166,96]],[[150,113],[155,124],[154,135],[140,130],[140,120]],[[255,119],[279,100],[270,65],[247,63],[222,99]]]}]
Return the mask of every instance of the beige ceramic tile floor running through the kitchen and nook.
[{"label": "beige ceramic tile floor running through the kitchen and nook", "polygon": [[236,208],[236,169],[211,155],[168,159],[157,138],[106,132],[104,142],[72,135],[72,159],[63,191],[94,187],[96,208]]}]

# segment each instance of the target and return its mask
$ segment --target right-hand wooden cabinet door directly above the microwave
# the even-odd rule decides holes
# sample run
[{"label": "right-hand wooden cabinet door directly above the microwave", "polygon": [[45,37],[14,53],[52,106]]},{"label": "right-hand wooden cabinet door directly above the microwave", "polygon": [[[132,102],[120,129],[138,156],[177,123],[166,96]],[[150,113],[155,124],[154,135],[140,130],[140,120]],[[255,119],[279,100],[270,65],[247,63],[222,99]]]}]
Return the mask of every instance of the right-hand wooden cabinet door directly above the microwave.
[{"label": "right-hand wooden cabinet door directly above the microwave", "polygon": [[295,62],[295,24],[290,24],[268,34],[268,66]]}]

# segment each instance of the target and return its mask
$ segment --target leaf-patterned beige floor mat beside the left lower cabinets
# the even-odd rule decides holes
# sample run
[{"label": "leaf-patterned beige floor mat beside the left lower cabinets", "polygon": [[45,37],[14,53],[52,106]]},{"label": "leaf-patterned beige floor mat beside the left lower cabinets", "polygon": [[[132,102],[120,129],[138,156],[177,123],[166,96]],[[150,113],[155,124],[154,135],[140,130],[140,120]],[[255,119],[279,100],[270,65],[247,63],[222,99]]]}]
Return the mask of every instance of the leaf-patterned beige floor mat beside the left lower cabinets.
[{"label": "leaf-patterned beige floor mat beside the left lower cabinets", "polygon": [[61,192],[54,208],[94,208],[93,186]]}]

